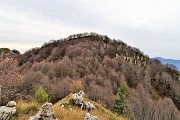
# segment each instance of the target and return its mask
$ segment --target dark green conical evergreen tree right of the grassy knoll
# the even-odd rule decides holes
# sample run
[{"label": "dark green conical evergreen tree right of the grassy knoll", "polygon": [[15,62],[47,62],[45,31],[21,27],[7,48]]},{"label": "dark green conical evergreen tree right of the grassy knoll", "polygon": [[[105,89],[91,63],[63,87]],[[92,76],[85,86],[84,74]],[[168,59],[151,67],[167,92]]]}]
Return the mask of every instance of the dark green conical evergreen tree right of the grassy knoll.
[{"label": "dark green conical evergreen tree right of the grassy knoll", "polygon": [[118,90],[118,97],[115,100],[112,111],[118,115],[128,117],[130,114],[129,109],[129,88],[126,82],[123,82]]}]

